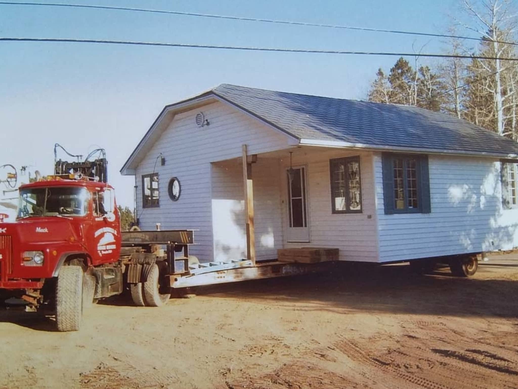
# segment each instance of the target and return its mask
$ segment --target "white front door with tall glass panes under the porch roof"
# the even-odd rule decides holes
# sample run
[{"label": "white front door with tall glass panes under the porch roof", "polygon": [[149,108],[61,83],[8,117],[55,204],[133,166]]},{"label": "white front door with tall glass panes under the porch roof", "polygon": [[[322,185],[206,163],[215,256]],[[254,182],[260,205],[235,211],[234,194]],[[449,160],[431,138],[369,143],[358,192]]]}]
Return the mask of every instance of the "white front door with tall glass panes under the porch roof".
[{"label": "white front door with tall glass panes under the porch roof", "polygon": [[289,169],[286,179],[288,183],[287,241],[309,242],[306,168]]}]

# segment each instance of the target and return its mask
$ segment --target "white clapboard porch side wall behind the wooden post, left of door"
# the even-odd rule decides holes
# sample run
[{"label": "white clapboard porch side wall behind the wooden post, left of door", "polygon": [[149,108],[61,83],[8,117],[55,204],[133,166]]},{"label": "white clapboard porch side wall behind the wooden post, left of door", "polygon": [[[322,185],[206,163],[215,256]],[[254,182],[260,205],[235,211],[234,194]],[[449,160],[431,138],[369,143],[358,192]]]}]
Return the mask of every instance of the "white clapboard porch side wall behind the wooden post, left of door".
[{"label": "white clapboard porch side wall behind the wooden post, left of door", "polygon": [[[257,260],[277,258],[282,247],[279,163],[259,158],[252,165],[255,253]],[[243,170],[240,160],[212,164],[214,260],[246,258]]]}]

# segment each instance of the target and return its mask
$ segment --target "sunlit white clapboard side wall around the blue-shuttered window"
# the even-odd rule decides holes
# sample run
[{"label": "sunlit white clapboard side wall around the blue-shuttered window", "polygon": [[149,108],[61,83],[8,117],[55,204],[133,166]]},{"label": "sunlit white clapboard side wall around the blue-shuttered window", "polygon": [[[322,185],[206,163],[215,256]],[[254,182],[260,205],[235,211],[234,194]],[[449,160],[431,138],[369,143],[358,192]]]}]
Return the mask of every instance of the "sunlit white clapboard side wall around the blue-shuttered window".
[{"label": "sunlit white clapboard side wall around the blue-shuttered window", "polygon": [[381,262],[517,245],[518,210],[502,210],[498,161],[430,155],[430,214],[385,215],[380,153],[374,166]]}]

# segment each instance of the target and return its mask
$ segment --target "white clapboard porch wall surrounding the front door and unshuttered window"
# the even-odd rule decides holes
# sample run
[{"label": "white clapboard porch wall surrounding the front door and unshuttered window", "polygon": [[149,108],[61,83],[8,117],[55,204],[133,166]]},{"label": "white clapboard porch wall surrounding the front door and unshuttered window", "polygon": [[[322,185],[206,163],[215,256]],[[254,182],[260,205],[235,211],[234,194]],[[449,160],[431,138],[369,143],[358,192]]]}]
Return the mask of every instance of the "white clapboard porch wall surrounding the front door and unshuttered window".
[{"label": "white clapboard porch wall surrounding the front door and unshuttered window", "polygon": [[[331,211],[331,187],[329,159],[360,156],[362,178],[361,214],[333,214]],[[370,152],[340,151],[325,148],[302,148],[294,152],[293,165],[307,166],[309,243],[290,243],[284,239],[284,247],[339,248],[340,260],[378,260],[376,206]],[[287,174],[290,158],[281,161],[280,182],[283,230],[287,228]]]}]

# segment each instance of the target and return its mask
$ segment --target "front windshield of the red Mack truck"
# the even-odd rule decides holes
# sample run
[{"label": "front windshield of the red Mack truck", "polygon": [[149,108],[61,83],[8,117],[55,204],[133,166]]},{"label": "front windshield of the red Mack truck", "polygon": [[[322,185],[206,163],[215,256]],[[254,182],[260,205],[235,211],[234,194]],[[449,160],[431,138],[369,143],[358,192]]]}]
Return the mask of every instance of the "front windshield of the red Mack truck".
[{"label": "front windshield of the red Mack truck", "polygon": [[84,216],[88,212],[88,190],[78,187],[20,190],[18,217]]}]

